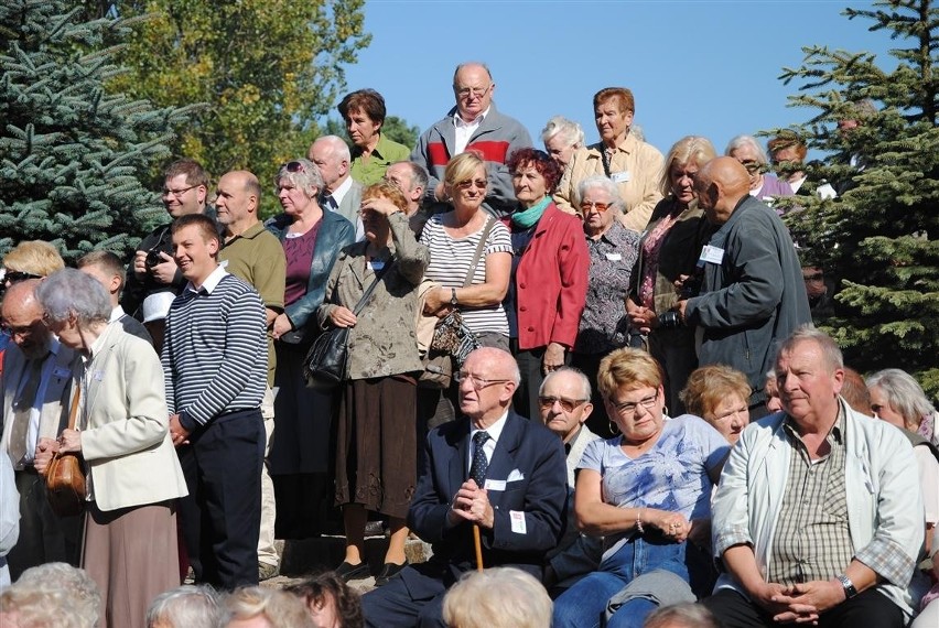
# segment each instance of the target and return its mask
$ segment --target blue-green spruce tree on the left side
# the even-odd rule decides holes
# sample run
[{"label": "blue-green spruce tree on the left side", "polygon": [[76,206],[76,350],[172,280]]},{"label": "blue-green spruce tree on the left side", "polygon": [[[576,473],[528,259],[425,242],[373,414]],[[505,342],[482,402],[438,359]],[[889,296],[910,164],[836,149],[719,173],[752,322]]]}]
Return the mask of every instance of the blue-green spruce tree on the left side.
[{"label": "blue-green spruce tree on the left side", "polygon": [[[109,93],[119,21],[60,0],[0,3],[0,256],[46,240],[66,261],[132,252],[163,210],[142,183],[186,111]],[[143,180],[145,181],[145,180]]]}]

